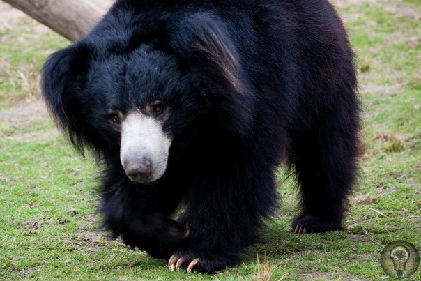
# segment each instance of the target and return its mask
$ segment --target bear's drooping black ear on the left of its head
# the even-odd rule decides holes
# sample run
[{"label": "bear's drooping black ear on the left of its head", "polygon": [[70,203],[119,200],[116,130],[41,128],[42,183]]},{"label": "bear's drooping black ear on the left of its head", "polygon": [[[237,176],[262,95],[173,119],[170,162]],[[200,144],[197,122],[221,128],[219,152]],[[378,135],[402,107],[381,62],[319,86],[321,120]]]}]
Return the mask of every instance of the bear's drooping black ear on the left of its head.
[{"label": "bear's drooping black ear on the left of its head", "polygon": [[75,43],[49,56],[41,70],[42,95],[49,112],[82,155],[86,121],[77,114],[81,108],[78,97],[84,87],[84,73],[89,68],[90,57],[89,47]]}]

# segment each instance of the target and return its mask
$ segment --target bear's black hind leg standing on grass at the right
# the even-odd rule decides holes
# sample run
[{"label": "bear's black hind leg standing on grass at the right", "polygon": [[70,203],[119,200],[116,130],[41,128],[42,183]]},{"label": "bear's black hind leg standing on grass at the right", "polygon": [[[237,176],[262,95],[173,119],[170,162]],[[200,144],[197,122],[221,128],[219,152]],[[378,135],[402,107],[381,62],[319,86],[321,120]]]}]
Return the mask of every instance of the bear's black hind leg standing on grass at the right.
[{"label": "bear's black hind leg standing on grass at the right", "polygon": [[[292,162],[300,185],[297,234],[342,229],[347,197],[356,180],[358,122],[334,116],[308,132],[292,134]],[[349,119],[348,119],[349,121]]]}]

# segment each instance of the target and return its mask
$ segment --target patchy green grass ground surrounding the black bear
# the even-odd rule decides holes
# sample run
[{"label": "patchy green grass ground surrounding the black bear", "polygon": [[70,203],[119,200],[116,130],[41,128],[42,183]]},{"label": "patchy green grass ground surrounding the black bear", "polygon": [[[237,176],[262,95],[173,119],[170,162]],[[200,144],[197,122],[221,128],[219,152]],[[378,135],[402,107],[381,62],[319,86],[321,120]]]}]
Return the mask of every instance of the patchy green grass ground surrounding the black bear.
[{"label": "patchy green grass ground surrounding the black bear", "polygon": [[[211,276],[171,273],[165,261],[98,229],[95,165],[33,110],[38,97],[25,82],[36,78],[29,70],[39,70],[68,41],[33,20],[0,29],[0,66],[7,66],[0,68],[0,279],[387,279],[378,261],[386,243],[405,240],[421,250],[421,21],[391,13],[385,1],[337,4],[358,55],[365,109],[366,151],[346,231],[292,234],[296,192],[286,181],[265,243]],[[401,5],[421,13],[419,1]],[[421,279],[420,269],[411,279]]]}]

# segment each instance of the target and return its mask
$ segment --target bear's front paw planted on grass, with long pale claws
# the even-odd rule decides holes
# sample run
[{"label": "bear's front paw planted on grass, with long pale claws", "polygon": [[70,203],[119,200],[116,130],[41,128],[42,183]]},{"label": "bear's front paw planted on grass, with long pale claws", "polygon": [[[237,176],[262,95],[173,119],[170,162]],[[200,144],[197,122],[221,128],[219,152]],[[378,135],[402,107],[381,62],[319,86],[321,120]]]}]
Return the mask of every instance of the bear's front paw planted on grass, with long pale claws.
[{"label": "bear's front paw planted on grass, with long pale claws", "polygon": [[214,273],[234,264],[234,262],[234,260],[228,259],[227,257],[203,255],[194,250],[181,248],[176,250],[174,255],[169,259],[168,268],[171,271],[179,271],[182,268],[187,273],[190,273],[192,270],[199,271],[200,273]]}]

